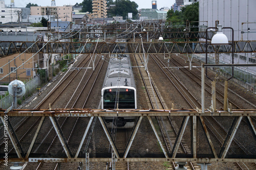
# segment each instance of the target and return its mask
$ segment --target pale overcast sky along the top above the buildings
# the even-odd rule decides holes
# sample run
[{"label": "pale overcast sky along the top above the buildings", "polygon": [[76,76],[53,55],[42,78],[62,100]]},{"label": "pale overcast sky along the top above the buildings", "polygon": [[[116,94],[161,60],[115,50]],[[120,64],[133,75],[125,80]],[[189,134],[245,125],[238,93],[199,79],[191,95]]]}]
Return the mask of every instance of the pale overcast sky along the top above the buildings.
[{"label": "pale overcast sky along the top above the buildings", "polygon": [[[63,5],[75,5],[76,3],[80,4],[83,0],[55,0],[56,6],[63,6]],[[139,9],[141,8],[152,8],[152,0],[130,0],[134,1],[138,4]],[[163,8],[172,6],[175,3],[175,0],[156,0],[157,1],[157,8]],[[51,6],[51,0],[14,0],[15,7],[26,7],[27,4],[37,4],[38,6]],[[5,5],[10,5],[11,0],[5,0]]]}]

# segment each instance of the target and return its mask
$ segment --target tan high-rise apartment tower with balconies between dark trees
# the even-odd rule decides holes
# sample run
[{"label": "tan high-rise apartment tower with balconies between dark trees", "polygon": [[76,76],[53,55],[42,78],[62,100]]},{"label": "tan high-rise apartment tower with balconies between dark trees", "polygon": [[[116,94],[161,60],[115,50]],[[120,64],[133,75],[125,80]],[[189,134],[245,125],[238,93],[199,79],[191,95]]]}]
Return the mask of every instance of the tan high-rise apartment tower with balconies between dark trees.
[{"label": "tan high-rise apartment tower with balconies between dark trees", "polygon": [[92,18],[106,18],[106,0],[93,0]]}]

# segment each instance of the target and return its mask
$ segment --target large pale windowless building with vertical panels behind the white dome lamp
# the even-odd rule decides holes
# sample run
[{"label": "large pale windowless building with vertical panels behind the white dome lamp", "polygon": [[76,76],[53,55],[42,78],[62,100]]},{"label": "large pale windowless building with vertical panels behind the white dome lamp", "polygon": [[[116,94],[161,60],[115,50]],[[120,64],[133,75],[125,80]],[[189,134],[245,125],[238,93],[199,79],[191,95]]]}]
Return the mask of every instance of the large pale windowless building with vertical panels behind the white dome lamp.
[{"label": "large pale windowless building with vertical panels behind the white dome lamp", "polygon": [[[216,27],[216,20],[223,27],[234,29],[234,41],[256,40],[256,15],[255,0],[200,0],[199,1],[199,24],[202,26]],[[208,22],[203,22],[208,21]],[[203,31],[203,30],[201,30]],[[244,32],[242,34],[242,32]],[[223,33],[231,41],[231,30],[223,29]],[[255,46],[253,47],[255,50]],[[220,61],[230,63],[231,55],[220,55]],[[252,64],[256,63],[255,54],[234,54],[234,63]],[[256,67],[247,67],[247,71],[255,72]]]}]

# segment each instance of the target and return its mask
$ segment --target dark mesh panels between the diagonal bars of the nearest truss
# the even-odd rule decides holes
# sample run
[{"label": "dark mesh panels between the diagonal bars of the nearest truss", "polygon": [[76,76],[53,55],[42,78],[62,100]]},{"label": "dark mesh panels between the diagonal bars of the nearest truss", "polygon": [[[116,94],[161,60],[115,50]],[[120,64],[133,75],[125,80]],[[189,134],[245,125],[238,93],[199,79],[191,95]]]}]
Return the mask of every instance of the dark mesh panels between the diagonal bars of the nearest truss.
[{"label": "dark mesh panels between the diagonal bars of the nearest truss", "polygon": [[[42,117],[8,116],[8,118],[8,128],[12,132],[17,149],[22,157],[25,157]],[[120,157],[123,157],[138,123],[139,116],[102,118],[107,134],[110,135],[117,153]],[[71,157],[74,157],[91,117],[52,117],[52,119],[67,145],[68,152]],[[150,120],[145,116],[142,118],[135,134],[127,158],[165,158],[162,147],[168,157],[174,155],[176,147],[179,147],[176,158],[193,157],[192,116],[189,117],[187,122],[186,116],[151,116],[151,120],[161,142],[158,141]],[[197,157],[214,158],[214,150],[218,157],[222,157],[238,120],[238,116],[197,116]],[[251,116],[249,119],[244,116],[237,127],[237,132],[230,143],[230,148],[225,158],[256,158],[256,134],[249,120],[251,120],[255,128],[256,117]],[[186,123],[184,134],[182,134],[182,128]],[[206,135],[207,133],[208,136]],[[181,135],[181,143],[178,145],[177,141]],[[209,139],[212,142],[212,146]],[[9,158],[17,158],[18,156],[9,137],[7,141]],[[160,143],[162,143],[162,147]],[[212,147],[214,150],[212,150]],[[0,157],[4,156],[4,150],[4,124],[1,122]],[[111,158],[113,152],[99,117],[93,117],[88,133],[84,141],[82,141],[78,158],[86,157],[86,153],[90,153],[90,158]],[[50,117],[45,117],[30,157],[67,157]]]}]

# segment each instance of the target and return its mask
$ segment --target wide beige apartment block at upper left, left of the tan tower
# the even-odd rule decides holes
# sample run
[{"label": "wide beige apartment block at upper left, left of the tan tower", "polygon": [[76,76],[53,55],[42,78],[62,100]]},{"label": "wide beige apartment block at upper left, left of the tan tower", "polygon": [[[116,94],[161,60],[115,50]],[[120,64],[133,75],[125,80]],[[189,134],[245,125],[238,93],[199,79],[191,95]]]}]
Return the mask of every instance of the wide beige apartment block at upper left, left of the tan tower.
[{"label": "wide beige apartment block at upper left, left of the tan tower", "polygon": [[72,7],[73,5],[64,5],[62,7],[30,7],[30,15],[53,15],[55,19],[60,19],[61,21],[72,21]]}]

